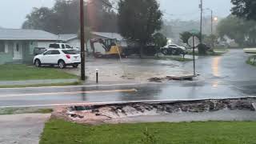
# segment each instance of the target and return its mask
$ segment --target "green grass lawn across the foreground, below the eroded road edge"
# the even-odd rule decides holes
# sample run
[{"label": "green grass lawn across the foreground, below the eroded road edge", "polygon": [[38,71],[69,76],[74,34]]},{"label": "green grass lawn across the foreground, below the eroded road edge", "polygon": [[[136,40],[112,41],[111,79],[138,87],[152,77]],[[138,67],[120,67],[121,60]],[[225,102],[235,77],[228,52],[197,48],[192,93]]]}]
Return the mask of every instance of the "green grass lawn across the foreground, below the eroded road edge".
[{"label": "green grass lawn across the foreground, below the eroded road edge", "polygon": [[52,119],[40,144],[255,143],[256,122],[139,123],[86,126]]}]

